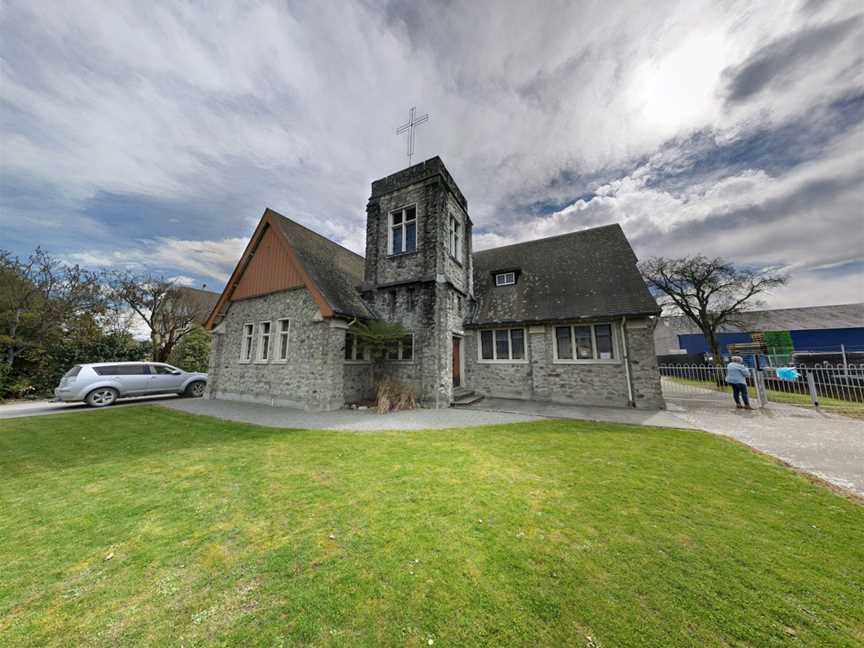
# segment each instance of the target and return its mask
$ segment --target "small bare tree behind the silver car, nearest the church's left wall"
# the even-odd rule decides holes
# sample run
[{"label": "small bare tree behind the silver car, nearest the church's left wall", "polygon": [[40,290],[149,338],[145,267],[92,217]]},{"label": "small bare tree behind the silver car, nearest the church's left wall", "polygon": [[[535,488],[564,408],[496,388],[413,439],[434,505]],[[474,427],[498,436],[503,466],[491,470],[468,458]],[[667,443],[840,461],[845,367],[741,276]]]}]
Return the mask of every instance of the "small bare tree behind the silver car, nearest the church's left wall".
[{"label": "small bare tree behind the silver car, nearest the church's left wall", "polygon": [[114,272],[108,283],[114,300],[130,308],[150,330],[156,362],[166,362],[183,336],[209,315],[209,304],[160,275]]}]

